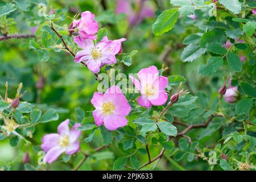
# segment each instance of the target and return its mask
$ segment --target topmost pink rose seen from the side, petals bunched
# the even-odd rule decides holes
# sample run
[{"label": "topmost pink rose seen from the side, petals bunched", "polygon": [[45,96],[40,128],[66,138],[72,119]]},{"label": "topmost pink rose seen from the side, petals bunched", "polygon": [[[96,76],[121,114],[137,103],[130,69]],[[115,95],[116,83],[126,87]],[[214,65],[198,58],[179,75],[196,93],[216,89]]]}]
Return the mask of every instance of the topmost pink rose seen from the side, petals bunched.
[{"label": "topmost pink rose seen from the side, petals bunched", "polygon": [[98,23],[94,20],[95,15],[90,11],[81,14],[80,20],[73,21],[73,28],[77,27],[79,35],[85,39],[97,39],[95,34],[98,32]]}]

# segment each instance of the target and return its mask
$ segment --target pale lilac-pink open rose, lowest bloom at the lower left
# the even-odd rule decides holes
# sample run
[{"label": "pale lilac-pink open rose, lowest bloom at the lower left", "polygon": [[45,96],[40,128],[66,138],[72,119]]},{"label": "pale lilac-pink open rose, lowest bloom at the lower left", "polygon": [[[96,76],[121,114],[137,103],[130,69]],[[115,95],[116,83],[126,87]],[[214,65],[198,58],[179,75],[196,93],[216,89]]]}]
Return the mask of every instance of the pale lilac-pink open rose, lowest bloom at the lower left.
[{"label": "pale lilac-pink open rose, lowest bloom at the lower left", "polygon": [[66,119],[58,126],[58,133],[44,135],[41,148],[46,152],[44,162],[49,164],[55,162],[65,152],[67,155],[75,154],[80,150],[79,137],[81,131],[77,130],[81,124],[77,123],[69,130],[69,119]]}]

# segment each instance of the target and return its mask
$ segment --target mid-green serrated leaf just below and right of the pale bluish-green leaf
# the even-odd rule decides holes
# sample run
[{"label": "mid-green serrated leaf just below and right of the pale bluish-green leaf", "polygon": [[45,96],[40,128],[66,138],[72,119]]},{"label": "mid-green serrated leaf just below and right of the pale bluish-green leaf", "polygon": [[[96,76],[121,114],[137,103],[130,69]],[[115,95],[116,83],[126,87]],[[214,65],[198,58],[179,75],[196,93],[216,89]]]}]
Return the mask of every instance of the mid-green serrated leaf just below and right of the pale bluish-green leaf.
[{"label": "mid-green serrated leaf just below and right of the pale bluish-green leaf", "polygon": [[203,76],[212,75],[218,71],[222,64],[222,57],[210,57],[207,64],[200,64],[199,74]]}]

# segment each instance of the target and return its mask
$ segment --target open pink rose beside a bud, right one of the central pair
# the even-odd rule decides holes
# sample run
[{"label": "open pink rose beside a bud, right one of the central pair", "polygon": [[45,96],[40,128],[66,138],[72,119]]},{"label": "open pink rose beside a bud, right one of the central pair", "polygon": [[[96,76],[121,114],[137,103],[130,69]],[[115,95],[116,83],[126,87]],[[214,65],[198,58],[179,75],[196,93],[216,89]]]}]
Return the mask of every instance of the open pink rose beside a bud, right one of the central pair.
[{"label": "open pink rose beside a bud, right one of the central pair", "polygon": [[141,69],[137,74],[139,81],[130,76],[136,89],[141,92],[138,104],[148,109],[154,105],[164,105],[168,99],[168,94],[164,89],[168,86],[168,78],[158,76],[159,71],[155,66]]}]

